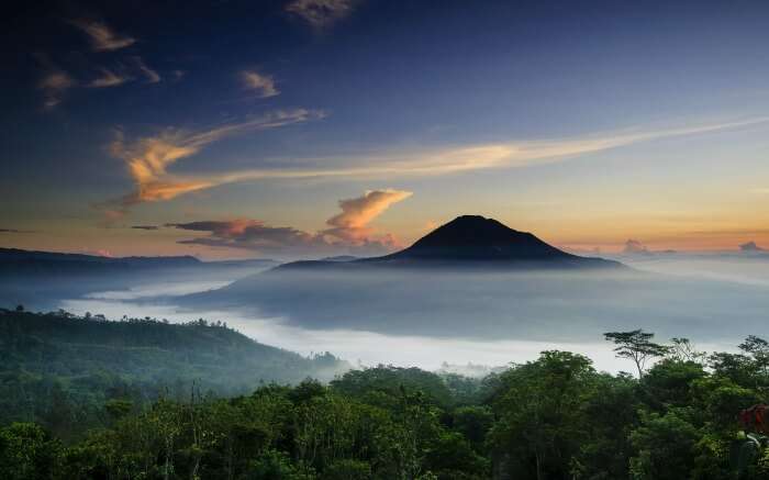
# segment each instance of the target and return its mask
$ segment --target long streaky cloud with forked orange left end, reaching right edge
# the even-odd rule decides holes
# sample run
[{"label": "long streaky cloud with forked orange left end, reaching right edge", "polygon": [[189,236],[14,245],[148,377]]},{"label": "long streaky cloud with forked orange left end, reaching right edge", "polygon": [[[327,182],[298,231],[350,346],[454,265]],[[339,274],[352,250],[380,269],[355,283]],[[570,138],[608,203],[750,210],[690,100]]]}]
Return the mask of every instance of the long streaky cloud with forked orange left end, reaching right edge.
[{"label": "long streaky cloud with forked orange left end, reaching right edge", "polygon": [[[123,204],[169,200],[208,188],[261,179],[358,178],[390,179],[439,176],[491,168],[523,168],[565,161],[613,148],[661,138],[698,135],[768,123],[753,119],[728,123],[703,124],[668,130],[636,130],[609,135],[551,141],[520,141],[446,148],[371,153],[355,157],[302,160],[298,168],[256,168],[207,175],[170,175],[167,167],[197,154],[203,146],[225,136],[248,130],[261,130],[305,122],[323,116],[321,112],[294,110],[278,112],[249,122],[227,124],[196,134],[168,130],[163,134],[126,143],[119,137],[113,144],[115,156],[125,159],[136,182],[136,191]],[[316,165],[307,167],[307,165]]]}]

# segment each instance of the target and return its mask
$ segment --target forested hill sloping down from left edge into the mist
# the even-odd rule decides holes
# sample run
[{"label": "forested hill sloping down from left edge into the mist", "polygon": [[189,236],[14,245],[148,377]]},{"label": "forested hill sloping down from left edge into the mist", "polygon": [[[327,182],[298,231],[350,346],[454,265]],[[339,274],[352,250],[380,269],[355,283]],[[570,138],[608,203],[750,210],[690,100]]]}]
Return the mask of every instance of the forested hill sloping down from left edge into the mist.
[{"label": "forested hill sloping down from left edge into the mist", "polygon": [[56,409],[77,421],[112,397],[142,402],[188,395],[192,382],[202,392],[236,394],[261,383],[328,380],[346,369],[330,354],[304,358],[219,322],[112,322],[2,309],[0,358],[4,421],[56,416]]}]

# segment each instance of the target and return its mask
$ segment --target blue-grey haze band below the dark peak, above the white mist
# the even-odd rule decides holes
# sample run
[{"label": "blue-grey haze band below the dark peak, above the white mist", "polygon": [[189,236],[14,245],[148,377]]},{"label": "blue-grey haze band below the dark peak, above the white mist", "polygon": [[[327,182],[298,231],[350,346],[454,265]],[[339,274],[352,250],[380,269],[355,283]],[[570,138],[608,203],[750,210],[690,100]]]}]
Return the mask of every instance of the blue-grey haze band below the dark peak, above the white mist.
[{"label": "blue-grey haze band below the dark peak, above the white mist", "polygon": [[643,327],[738,341],[765,327],[762,286],[627,271],[287,269],[185,298],[309,330],[470,341],[590,342]]}]

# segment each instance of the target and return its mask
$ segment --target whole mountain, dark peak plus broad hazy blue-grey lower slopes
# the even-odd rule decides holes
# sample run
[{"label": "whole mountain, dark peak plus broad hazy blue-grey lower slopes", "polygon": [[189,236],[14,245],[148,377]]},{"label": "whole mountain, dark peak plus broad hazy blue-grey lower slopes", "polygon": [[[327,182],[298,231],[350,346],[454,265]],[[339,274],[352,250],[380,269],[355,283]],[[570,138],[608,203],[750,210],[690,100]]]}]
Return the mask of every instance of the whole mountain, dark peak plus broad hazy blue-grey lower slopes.
[{"label": "whole mountain, dark peak plus broad hazy blue-grey lower slopes", "polygon": [[[287,264],[172,303],[339,335],[494,342],[576,342],[617,325],[668,337],[679,335],[680,325],[696,325],[701,335],[723,341],[734,335],[734,325],[744,336],[765,322],[756,314],[769,308],[758,263],[750,267],[759,279],[753,286],[622,265],[567,254],[493,220],[459,217],[390,256]],[[731,277],[747,271],[742,264]],[[723,319],[733,321],[726,325]]]}]

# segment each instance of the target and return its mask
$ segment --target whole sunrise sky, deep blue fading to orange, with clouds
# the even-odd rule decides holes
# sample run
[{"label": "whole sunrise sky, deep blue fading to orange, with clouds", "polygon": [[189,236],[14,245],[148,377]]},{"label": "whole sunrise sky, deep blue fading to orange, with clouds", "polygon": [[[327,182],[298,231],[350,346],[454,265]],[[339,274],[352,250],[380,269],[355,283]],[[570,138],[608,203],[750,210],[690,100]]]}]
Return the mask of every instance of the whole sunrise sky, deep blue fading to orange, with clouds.
[{"label": "whole sunrise sky, deep blue fading to orange, with clouds", "polygon": [[765,1],[27,3],[0,247],[378,255],[461,214],[769,247]]}]

